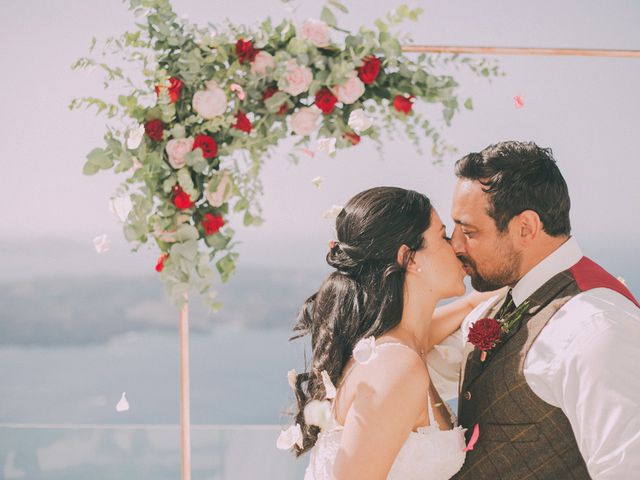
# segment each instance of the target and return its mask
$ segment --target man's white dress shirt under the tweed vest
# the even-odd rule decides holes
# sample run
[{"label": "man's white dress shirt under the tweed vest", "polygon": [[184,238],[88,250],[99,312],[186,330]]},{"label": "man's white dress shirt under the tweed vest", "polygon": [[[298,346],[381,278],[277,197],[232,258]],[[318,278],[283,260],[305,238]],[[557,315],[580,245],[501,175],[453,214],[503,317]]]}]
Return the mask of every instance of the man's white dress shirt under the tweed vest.
[{"label": "man's white dress shirt under the tweed vest", "polygon": [[[581,258],[578,243],[570,238],[515,285],[516,306]],[[429,370],[443,398],[457,396],[469,327],[493,300],[478,305],[460,330],[429,353]],[[640,478],[639,369],[640,309],[608,288],[569,300],[527,353],[527,383],[567,416],[594,479]]]}]

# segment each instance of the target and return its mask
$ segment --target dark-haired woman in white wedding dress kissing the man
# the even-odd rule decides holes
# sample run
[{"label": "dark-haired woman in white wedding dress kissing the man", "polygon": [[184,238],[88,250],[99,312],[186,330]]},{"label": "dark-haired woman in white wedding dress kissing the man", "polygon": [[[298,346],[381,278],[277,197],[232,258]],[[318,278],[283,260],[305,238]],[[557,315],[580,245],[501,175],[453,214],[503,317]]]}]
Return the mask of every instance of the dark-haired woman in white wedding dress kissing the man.
[{"label": "dark-haired woman in white wedding dress kissing the man", "polygon": [[[424,356],[487,294],[436,309],[464,293],[465,272],[420,193],[361,192],[338,215],[336,232],[327,254],[335,272],[295,327],[311,334],[313,350],[309,371],[295,377],[295,453],[311,450],[305,480],[448,479],[464,463],[464,431]],[[305,407],[326,398],[330,421],[321,430],[305,420]]]}]

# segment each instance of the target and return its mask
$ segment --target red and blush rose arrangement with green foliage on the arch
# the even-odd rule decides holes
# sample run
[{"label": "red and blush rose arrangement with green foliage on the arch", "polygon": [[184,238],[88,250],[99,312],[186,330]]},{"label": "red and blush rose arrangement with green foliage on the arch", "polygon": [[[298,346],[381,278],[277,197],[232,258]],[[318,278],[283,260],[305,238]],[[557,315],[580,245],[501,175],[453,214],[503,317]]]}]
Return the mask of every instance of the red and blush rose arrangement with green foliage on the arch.
[{"label": "red and blush rose arrangement with green foliage on the arch", "polygon": [[[129,7],[143,21],[105,43],[102,56],[116,63],[83,57],[72,66],[101,69],[105,88],[119,84],[125,93],[117,101],[74,99],[70,108],[95,107],[110,119],[105,146],[88,154],[84,173],[126,175],[112,199],[124,235],[135,249],[155,240],[156,270],[178,306],[192,289],[217,306],[210,265],[222,281],[235,269],[232,216],[262,223],[259,174],[282,139],[296,139],[294,162],[314,145],[335,155],[367,138],[381,148],[382,131],[398,126],[418,148],[421,130],[435,160],[449,148],[442,127],[414,104],[441,107],[449,125],[460,107],[456,81],[433,72],[441,57],[403,55],[391,32],[420,9],[403,5],[375,30],[353,34],[337,27],[333,12],[346,8],[336,0],[319,20],[266,20],[257,29],[200,28],[178,19],[169,0],[129,0]],[[484,60],[444,62],[497,74]],[[471,109],[471,99],[464,105]]]}]

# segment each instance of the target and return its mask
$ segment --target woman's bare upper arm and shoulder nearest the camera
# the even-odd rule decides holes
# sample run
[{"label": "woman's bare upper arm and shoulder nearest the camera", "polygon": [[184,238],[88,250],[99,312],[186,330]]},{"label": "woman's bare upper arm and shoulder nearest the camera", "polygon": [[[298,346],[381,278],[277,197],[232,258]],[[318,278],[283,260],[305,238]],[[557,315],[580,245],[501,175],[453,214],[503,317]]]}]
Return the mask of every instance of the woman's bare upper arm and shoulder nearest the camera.
[{"label": "woman's bare upper arm and shoulder nearest the camera", "polygon": [[429,380],[420,357],[385,349],[362,365],[333,469],[337,480],[383,480],[425,408]]}]

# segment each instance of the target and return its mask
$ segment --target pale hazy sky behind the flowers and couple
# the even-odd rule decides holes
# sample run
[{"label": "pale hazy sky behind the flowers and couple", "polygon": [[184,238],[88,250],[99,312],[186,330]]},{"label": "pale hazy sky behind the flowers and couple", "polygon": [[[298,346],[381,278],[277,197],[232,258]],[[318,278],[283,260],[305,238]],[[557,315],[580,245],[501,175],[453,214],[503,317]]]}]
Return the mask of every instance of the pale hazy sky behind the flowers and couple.
[{"label": "pale hazy sky behind the flowers and couple", "polygon": [[[200,24],[225,18],[257,24],[269,15],[288,15],[278,0],[173,3],[178,14]],[[373,25],[375,18],[397,5],[345,3],[350,14],[338,20],[348,29]],[[319,17],[320,2],[292,4],[298,6],[295,19],[300,23]],[[422,6],[425,13],[404,31],[418,44],[640,50],[640,2],[633,0],[437,0],[413,5]],[[92,36],[106,38],[130,29],[132,13],[118,0],[2,0],[1,7],[2,238],[29,239],[25,249],[39,245],[41,254],[54,239],[71,240],[95,256],[91,239],[107,233],[114,239],[112,251],[92,260],[95,268],[130,263],[120,227],[107,208],[119,179],[107,172],[82,175],[85,155],[102,146],[104,119],[92,112],[69,112],[67,105],[74,96],[102,95],[97,72],[72,72],[69,66],[88,53]],[[457,75],[461,95],[472,96],[475,109],[454,117],[445,131],[459,152],[442,166],[420,157],[401,136],[387,143],[383,161],[372,142],[364,141],[336,158],[317,154],[294,166],[286,160],[283,146],[263,172],[265,225],[237,228],[242,261],[322,265],[332,237],[322,213],[375,185],[426,193],[450,224],[454,161],[490,143],[514,139],[553,148],[569,184],[573,230],[583,249],[615,250],[637,270],[640,59],[491,58],[499,61],[505,77],[489,83],[464,71]],[[524,99],[522,109],[514,106],[517,94]],[[316,176],[324,177],[319,190],[311,184]],[[152,251],[149,258],[155,255]]]}]

